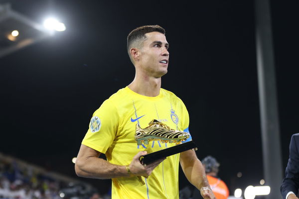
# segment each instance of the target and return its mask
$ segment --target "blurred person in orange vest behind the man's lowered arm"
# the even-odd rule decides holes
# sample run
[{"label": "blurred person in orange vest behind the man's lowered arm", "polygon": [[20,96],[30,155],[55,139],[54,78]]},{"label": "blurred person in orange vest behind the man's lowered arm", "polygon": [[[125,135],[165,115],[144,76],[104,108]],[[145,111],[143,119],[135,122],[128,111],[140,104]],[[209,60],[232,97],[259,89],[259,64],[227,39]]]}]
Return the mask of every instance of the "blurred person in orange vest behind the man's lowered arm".
[{"label": "blurred person in orange vest behind the man's lowered arm", "polygon": [[[201,163],[205,169],[208,182],[216,199],[227,199],[229,190],[226,184],[218,177],[220,164],[212,156],[205,157]],[[194,190],[193,199],[202,199],[198,190]]]}]

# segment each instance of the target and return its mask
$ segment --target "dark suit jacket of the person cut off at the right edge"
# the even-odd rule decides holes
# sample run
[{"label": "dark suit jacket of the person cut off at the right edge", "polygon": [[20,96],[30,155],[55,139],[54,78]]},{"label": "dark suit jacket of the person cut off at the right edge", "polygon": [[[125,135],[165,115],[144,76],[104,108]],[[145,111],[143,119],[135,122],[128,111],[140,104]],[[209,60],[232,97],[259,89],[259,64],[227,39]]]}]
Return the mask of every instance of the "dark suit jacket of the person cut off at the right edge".
[{"label": "dark suit jacket of the person cut off at the right edge", "polygon": [[285,178],[281,186],[283,199],[289,192],[298,194],[299,189],[299,133],[292,135],[290,143],[290,157],[286,168]]}]

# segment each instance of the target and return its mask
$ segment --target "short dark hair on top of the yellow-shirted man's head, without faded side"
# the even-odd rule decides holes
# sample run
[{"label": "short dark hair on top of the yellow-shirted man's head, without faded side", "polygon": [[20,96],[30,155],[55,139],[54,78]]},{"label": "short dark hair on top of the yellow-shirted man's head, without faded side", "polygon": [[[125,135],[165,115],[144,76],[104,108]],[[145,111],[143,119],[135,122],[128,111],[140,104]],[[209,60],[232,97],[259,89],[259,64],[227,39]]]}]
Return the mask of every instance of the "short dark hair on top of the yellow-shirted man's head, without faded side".
[{"label": "short dark hair on top of the yellow-shirted man's head, without faded side", "polygon": [[[147,34],[149,32],[160,32],[162,34],[165,34],[165,29],[159,25],[144,25],[144,26],[141,26],[141,27],[138,27],[138,28],[132,30],[132,32],[130,32],[130,34],[127,37],[128,53],[129,53],[132,43],[139,39],[146,39],[147,37],[145,36],[145,34]],[[130,53],[129,53],[129,55],[130,55]]]}]

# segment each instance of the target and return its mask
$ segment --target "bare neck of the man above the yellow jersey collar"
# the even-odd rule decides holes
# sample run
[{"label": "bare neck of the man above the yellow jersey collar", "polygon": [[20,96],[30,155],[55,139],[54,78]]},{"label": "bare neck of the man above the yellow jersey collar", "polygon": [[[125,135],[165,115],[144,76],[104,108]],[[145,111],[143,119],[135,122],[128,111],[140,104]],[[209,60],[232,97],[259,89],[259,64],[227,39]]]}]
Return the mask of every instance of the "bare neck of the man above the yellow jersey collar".
[{"label": "bare neck of the man above the yellow jersey collar", "polygon": [[133,82],[128,86],[129,89],[143,96],[156,97],[160,93],[161,78],[148,76],[135,76]]}]

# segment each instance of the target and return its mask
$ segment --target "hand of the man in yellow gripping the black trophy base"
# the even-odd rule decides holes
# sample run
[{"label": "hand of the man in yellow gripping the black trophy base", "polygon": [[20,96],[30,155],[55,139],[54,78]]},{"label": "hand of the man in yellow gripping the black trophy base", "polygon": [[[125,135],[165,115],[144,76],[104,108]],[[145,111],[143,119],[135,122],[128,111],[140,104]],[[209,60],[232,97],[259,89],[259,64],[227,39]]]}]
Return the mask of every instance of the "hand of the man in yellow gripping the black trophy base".
[{"label": "hand of the man in yellow gripping the black trophy base", "polygon": [[135,176],[149,176],[152,172],[152,170],[158,166],[163,160],[166,158],[162,158],[159,160],[156,160],[155,162],[150,163],[147,166],[144,166],[140,163],[140,157],[146,155],[147,151],[140,151],[138,154],[136,154],[129,165],[129,169],[131,173]]}]

